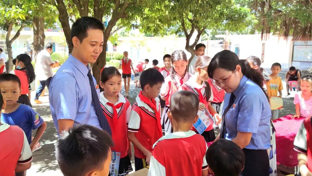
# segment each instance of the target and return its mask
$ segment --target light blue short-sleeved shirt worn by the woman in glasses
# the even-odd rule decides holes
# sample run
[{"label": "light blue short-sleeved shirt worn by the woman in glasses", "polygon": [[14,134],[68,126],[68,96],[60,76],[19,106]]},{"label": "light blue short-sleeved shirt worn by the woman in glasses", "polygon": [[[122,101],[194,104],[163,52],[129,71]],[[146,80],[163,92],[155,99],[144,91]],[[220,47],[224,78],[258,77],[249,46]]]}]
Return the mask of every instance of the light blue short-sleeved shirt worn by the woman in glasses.
[{"label": "light blue short-sleeved shirt worn by the woman in glasses", "polygon": [[[262,89],[246,76],[241,78],[233,92],[236,99],[225,115],[227,140],[236,137],[237,131],[252,133],[250,143],[245,147],[253,150],[266,150],[270,147],[270,104]],[[226,93],[223,112],[231,94]]]}]

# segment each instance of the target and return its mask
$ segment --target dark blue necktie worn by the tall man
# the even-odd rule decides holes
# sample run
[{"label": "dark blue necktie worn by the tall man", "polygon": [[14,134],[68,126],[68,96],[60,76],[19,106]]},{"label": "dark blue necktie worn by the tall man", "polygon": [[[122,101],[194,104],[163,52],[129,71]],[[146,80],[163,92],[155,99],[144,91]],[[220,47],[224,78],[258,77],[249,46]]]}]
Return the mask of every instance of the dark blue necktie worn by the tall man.
[{"label": "dark blue necktie worn by the tall man", "polygon": [[108,121],[105,117],[105,114],[100,106],[100,100],[99,97],[96,93],[94,82],[93,82],[93,77],[91,75],[91,71],[89,70],[88,72],[88,78],[90,82],[90,87],[91,87],[91,94],[92,94],[92,103],[95,108],[95,113],[99,118],[100,121],[100,126],[103,130],[107,131],[110,136],[112,135],[112,131],[110,130],[110,125],[108,124]]}]

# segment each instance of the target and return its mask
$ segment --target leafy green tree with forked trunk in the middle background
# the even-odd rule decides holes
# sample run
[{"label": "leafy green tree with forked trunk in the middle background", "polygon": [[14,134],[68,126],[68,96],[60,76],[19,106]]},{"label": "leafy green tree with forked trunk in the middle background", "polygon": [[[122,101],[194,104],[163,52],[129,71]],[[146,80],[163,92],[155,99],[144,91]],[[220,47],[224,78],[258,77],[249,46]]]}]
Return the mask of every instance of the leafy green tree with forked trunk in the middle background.
[{"label": "leafy green tree with forked trunk in the middle background", "polygon": [[[147,7],[140,16],[143,31],[164,34],[164,27],[176,26],[176,34],[183,32],[186,36],[185,49],[192,58],[195,45],[207,30],[243,31],[254,20],[248,8],[233,0],[163,0],[147,4]],[[191,42],[195,31],[195,41]]]}]

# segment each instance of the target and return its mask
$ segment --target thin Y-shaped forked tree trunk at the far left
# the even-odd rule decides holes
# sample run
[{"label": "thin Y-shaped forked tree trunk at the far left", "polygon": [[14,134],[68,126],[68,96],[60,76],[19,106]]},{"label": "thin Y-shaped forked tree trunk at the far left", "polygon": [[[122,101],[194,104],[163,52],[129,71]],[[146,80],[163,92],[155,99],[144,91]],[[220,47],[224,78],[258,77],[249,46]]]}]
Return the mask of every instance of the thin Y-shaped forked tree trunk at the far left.
[{"label": "thin Y-shaped forked tree trunk at the far left", "polygon": [[10,40],[10,36],[11,36],[11,32],[12,32],[12,28],[13,28],[13,21],[11,21],[9,24],[8,24],[8,28],[7,28],[7,35],[6,35],[6,38],[5,38],[5,42],[6,42],[6,45],[7,45],[7,55],[8,55],[8,67],[9,69],[7,70],[7,72],[9,73],[10,71],[13,70],[13,63],[12,63],[12,60],[13,60],[13,52],[12,52],[12,42],[14,40],[17,39],[17,37],[20,35],[22,29],[24,28],[24,23],[21,24],[20,28],[17,30],[17,32],[15,33],[15,35],[12,37],[12,39]]}]

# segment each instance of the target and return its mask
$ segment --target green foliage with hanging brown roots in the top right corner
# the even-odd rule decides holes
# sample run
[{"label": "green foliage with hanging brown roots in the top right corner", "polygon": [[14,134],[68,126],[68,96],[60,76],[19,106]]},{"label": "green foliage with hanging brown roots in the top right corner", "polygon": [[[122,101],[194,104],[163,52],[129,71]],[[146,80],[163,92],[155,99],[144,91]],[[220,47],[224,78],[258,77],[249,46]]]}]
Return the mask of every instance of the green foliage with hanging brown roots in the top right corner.
[{"label": "green foliage with hanging brown roots in the top right corner", "polygon": [[311,0],[237,0],[242,6],[251,9],[259,21],[251,27],[269,34],[294,36],[295,40],[312,37]]}]

